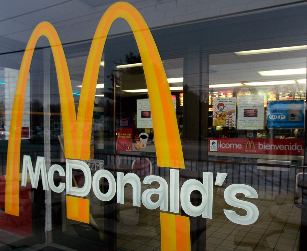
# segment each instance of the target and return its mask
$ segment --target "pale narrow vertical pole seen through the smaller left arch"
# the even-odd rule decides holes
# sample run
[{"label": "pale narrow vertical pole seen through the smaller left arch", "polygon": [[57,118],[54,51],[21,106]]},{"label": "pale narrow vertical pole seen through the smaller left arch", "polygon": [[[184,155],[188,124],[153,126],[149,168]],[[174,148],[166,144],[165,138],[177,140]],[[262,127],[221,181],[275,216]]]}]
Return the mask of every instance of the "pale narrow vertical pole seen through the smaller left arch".
[{"label": "pale narrow vertical pole seen through the smaller left arch", "polygon": [[[44,49],[44,156],[47,172],[51,165],[50,146],[50,49]],[[45,234],[46,244],[52,242],[51,190],[45,191]]]}]

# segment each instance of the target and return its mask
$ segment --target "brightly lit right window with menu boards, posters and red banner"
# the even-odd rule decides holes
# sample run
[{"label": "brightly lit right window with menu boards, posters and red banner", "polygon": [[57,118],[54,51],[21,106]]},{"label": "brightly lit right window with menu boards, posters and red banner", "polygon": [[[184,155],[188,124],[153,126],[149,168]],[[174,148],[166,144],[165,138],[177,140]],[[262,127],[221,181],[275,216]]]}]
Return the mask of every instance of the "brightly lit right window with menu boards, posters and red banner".
[{"label": "brightly lit right window with menu boards, posters and red banner", "polygon": [[306,46],[210,55],[211,159],[304,161]]}]

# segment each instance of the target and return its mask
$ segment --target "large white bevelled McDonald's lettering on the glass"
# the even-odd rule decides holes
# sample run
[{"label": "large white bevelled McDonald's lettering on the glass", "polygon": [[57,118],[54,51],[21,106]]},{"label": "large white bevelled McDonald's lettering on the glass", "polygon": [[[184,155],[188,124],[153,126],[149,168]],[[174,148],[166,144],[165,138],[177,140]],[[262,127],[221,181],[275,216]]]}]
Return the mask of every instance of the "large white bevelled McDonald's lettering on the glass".
[{"label": "large white bevelled McDonald's lettering on the glass", "polygon": [[[77,169],[83,172],[84,185],[83,187],[75,187],[72,182],[72,170]],[[66,184],[59,182],[56,186],[54,182],[54,173],[58,172],[60,176],[66,176]],[[160,208],[161,211],[167,211],[171,213],[179,213],[179,196],[181,202],[181,208],[186,214],[192,217],[202,216],[203,218],[212,219],[213,208],[213,186],[221,186],[227,177],[227,173],[217,173],[216,182],[213,183],[213,173],[203,172],[203,180],[200,182],[196,179],[188,179],[182,183],[181,189],[179,189],[179,170],[170,169],[169,185],[168,182],[157,175],[148,175],[144,178],[143,183],[151,185],[152,182],[158,182],[158,188],[148,188],[142,192],[141,195],[141,180],[135,173],[123,172],[116,173],[115,177],[110,171],[101,169],[95,172],[93,177],[91,176],[91,170],[88,165],[81,160],[66,159],[66,174],[64,168],[60,165],[54,164],[46,170],[45,158],[37,157],[35,164],[35,171],[31,157],[28,155],[23,156],[22,165],[22,180],[21,186],[27,185],[27,177],[29,173],[29,179],[33,188],[37,188],[38,182],[41,176],[42,186],[44,190],[51,189],[53,192],[62,193],[65,190],[66,194],[73,196],[85,197],[89,194],[91,187],[95,196],[101,201],[110,201],[117,194],[117,203],[125,203],[125,186],[130,184],[132,186],[132,205],[140,207],[141,200],[143,206],[153,210]],[[102,193],[99,188],[99,181],[105,178],[108,182],[108,190],[106,193]],[[191,200],[192,192],[199,191],[202,196],[202,201],[199,206],[195,206]],[[236,194],[242,193],[247,198],[258,198],[257,191],[245,184],[231,184],[226,187],[224,191],[224,198],[228,205],[242,208],[247,213],[242,216],[237,214],[234,210],[224,209],[226,217],[240,225],[250,225],[254,223],[259,216],[259,211],[255,204],[240,200],[236,198]],[[156,202],[151,200],[151,195],[157,194],[159,199]]]}]

